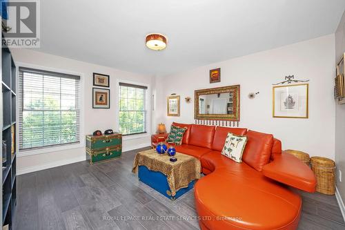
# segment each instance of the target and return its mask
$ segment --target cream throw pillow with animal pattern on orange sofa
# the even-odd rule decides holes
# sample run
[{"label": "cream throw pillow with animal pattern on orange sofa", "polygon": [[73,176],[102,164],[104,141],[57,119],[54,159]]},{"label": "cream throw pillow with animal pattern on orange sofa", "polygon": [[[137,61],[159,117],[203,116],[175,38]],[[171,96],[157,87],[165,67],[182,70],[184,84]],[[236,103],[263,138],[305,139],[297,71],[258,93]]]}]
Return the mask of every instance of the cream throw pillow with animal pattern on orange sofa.
[{"label": "cream throw pillow with animal pattern on orange sofa", "polygon": [[229,157],[235,162],[242,162],[242,155],[246,147],[247,137],[228,133],[221,155]]}]

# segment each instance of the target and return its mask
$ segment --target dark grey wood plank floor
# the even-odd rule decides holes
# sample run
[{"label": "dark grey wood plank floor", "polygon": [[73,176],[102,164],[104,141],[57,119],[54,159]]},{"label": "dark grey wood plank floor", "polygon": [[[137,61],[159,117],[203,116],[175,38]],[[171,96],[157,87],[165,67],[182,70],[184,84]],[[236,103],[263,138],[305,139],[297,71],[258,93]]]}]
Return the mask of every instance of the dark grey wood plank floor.
[{"label": "dark grey wood plank floor", "polygon": [[[139,182],[131,173],[137,151],[92,166],[78,162],[19,175],[14,229],[199,229],[193,190],[171,201]],[[345,229],[335,196],[300,193],[298,229]],[[181,216],[186,219],[174,220]]]}]

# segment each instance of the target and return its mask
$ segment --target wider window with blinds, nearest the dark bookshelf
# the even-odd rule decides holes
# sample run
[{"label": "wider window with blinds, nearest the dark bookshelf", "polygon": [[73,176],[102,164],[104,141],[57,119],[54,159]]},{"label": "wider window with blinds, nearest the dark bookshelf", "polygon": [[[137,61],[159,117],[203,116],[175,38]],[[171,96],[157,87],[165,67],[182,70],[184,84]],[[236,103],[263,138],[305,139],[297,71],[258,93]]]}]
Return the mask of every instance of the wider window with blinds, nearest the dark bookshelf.
[{"label": "wider window with blinds, nearest the dark bookshelf", "polygon": [[19,68],[19,149],[80,140],[80,77]]}]

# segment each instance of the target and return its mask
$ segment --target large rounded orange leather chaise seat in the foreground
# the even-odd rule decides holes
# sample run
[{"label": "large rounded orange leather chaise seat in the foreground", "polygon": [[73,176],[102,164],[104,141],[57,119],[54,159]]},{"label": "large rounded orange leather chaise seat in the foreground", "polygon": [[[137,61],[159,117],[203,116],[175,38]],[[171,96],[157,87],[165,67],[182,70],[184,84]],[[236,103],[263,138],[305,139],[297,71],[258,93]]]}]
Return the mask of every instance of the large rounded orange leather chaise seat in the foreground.
[{"label": "large rounded orange leather chaise seat in the foreground", "polygon": [[204,229],[297,229],[299,195],[248,170],[242,175],[216,169],[197,181],[195,205]]}]

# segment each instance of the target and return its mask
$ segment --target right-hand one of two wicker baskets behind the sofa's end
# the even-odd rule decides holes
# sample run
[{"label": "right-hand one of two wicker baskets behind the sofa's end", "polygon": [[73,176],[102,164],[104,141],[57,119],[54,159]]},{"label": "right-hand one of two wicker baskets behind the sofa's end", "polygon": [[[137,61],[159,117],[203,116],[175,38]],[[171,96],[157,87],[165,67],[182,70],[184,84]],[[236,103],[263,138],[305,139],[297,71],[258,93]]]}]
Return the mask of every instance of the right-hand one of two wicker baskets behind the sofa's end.
[{"label": "right-hand one of two wicker baskets behind the sofa's end", "polygon": [[311,169],[316,176],[316,191],[334,195],[335,162],[325,157],[311,157]]}]

